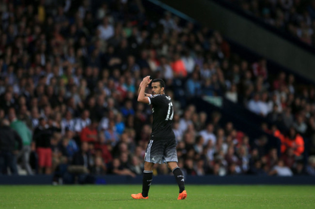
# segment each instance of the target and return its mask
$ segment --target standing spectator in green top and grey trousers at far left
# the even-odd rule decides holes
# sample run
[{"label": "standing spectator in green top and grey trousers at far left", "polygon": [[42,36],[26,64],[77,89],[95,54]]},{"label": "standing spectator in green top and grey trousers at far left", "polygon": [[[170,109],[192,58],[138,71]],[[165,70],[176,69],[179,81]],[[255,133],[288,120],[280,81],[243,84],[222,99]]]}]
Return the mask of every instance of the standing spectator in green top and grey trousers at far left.
[{"label": "standing spectator in green top and grey trousers at far left", "polygon": [[31,165],[29,164],[32,140],[31,131],[24,122],[16,118],[16,113],[13,108],[10,109],[9,112],[10,112],[9,119],[11,121],[10,126],[13,130],[17,132],[17,134],[19,134],[23,142],[23,148],[21,152],[18,154],[17,159],[22,157],[22,165],[26,169],[27,173],[31,175],[33,173],[31,170]]}]

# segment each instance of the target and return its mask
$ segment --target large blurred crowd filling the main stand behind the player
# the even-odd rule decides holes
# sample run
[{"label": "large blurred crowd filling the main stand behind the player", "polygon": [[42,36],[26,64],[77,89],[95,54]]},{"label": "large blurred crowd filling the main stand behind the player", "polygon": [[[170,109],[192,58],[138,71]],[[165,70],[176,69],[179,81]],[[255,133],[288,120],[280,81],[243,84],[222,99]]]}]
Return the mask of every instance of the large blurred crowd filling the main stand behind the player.
[{"label": "large blurred crowd filling the main stand behind the player", "polygon": [[[165,80],[173,98],[185,175],[315,175],[315,158],[303,155],[305,138],[314,141],[313,86],[271,74],[265,59],[239,58],[218,31],[147,10],[141,0],[1,0],[3,174],[82,183],[141,175],[152,117],[137,93],[151,75]],[[225,97],[268,119],[272,125],[261,128],[281,147],[189,104],[203,96]],[[315,155],[315,146],[308,149]],[[170,173],[166,165],[154,169]]]}]

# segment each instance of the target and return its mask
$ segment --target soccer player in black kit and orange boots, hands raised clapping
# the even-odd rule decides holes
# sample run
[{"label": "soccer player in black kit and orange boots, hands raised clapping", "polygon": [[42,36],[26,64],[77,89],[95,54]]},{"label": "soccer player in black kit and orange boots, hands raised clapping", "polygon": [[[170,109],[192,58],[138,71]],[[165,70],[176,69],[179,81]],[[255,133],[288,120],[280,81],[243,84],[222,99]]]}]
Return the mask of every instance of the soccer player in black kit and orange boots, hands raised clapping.
[{"label": "soccer player in black kit and orange boots, hands raised clapping", "polygon": [[150,76],[144,77],[139,88],[138,102],[152,104],[153,124],[151,138],[144,156],[142,193],[131,194],[131,196],[134,199],[148,199],[153,165],[167,163],[178,183],[179,195],[177,199],[186,199],[185,181],[183,172],[177,165],[176,141],[172,130],[174,115],[172,100],[171,97],[164,94],[165,83],[162,79],[153,80],[152,95],[144,93],[151,81]]}]

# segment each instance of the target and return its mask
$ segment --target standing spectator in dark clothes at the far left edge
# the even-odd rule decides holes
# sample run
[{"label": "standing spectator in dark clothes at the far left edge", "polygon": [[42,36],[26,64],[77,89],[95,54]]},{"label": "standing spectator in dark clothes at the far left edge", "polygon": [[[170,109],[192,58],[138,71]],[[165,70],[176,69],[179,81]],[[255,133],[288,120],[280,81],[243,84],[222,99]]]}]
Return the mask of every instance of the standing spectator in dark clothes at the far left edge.
[{"label": "standing spectator in dark clothes at the far left edge", "polygon": [[[0,126],[0,173],[7,174],[7,167],[11,174],[17,175],[16,149],[22,149],[22,139],[10,126],[7,119],[1,121]],[[17,143],[17,148],[16,148]]]}]

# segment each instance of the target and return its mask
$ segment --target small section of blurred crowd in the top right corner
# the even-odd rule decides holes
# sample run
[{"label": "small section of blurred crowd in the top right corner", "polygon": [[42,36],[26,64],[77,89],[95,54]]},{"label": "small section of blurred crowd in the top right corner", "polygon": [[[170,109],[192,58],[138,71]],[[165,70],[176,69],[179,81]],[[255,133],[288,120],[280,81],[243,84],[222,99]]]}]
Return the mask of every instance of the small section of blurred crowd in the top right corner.
[{"label": "small section of blurred crowd in the top right corner", "polygon": [[308,45],[315,45],[315,0],[229,0]]}]

